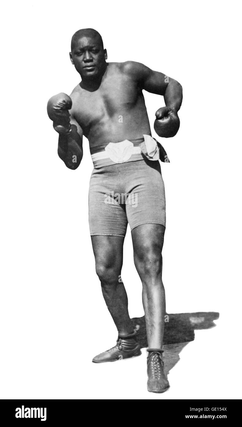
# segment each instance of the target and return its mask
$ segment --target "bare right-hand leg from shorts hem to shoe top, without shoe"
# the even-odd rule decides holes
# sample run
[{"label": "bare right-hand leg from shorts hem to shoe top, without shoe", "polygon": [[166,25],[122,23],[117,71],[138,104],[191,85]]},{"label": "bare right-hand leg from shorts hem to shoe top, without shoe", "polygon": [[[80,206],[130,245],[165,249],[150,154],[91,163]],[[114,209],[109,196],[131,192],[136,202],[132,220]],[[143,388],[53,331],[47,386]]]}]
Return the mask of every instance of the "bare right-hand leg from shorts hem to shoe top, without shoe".
[{"label": "bare right-hand leg from shorts hem to shoe top, without shoe", "polygon": [[163,343],[165,290],[162,282],[162,255],[165,227],[143,224],[132,230],[134,264],[143,285],[143,307],[149,348]]}]

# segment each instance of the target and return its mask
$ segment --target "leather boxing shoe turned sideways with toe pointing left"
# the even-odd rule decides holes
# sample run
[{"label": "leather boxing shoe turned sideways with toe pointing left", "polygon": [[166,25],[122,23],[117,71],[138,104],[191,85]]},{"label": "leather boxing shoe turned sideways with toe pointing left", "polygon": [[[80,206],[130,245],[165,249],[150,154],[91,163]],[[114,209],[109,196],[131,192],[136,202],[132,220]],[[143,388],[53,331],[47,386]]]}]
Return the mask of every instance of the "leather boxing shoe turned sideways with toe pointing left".
[{"label": "leather boxing shoe turned sideways with toe pointing left", "polygon": [[137,342],[136,331],[134,331],[129,335],[119,335],[114,347],[93,357],[92,361],[94,363],[115,362],[116,360],[140,356],[140,354],[140,344]]}]

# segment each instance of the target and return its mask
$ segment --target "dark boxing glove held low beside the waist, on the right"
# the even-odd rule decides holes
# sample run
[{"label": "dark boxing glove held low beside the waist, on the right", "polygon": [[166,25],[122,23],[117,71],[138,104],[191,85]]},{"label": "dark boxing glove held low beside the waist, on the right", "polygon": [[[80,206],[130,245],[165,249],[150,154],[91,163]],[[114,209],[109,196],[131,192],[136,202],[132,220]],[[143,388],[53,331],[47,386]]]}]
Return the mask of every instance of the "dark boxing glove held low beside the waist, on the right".
[{"label": "dark boxing glove held low beside the waist, on the right", "polygon": [[154,129],[157,135],[171,138],[178,132],[180,120],[175,110],[170,107],[161,107],[155,113]]}]

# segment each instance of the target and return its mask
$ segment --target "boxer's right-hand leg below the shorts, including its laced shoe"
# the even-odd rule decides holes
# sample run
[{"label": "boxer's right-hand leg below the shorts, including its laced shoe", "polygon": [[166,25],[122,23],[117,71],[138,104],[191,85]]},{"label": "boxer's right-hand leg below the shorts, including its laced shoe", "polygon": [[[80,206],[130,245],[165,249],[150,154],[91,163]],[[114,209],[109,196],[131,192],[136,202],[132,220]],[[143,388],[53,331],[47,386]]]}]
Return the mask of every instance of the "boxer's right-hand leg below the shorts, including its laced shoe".
[{"label": "boxer's right-hand leg below the shorts, including its laced shoe", "polygon": [[149,347],[147,389],[154,393],[162,393],[169,389],[161,349],[166,310],[165,290],[161,277],[164,232],[165,227],[160,224],[143,224],[132,231],[134,263],[143,285],[142,296]]}]

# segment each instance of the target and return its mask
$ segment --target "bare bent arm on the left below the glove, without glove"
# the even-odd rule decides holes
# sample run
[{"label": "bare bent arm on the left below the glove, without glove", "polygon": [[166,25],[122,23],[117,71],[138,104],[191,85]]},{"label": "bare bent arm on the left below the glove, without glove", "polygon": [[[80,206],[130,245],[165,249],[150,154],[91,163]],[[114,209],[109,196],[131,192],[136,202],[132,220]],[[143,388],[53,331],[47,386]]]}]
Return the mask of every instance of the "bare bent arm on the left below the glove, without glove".
[{"label": "bare bent arm on the left below the glove, without glove", "polygon": [[82,150],[82,128],[79,126],[73,115],[70,114],[70,135],[59,135],[58,156],[64,161],[69,169],[76,169],[81,163]]}]

